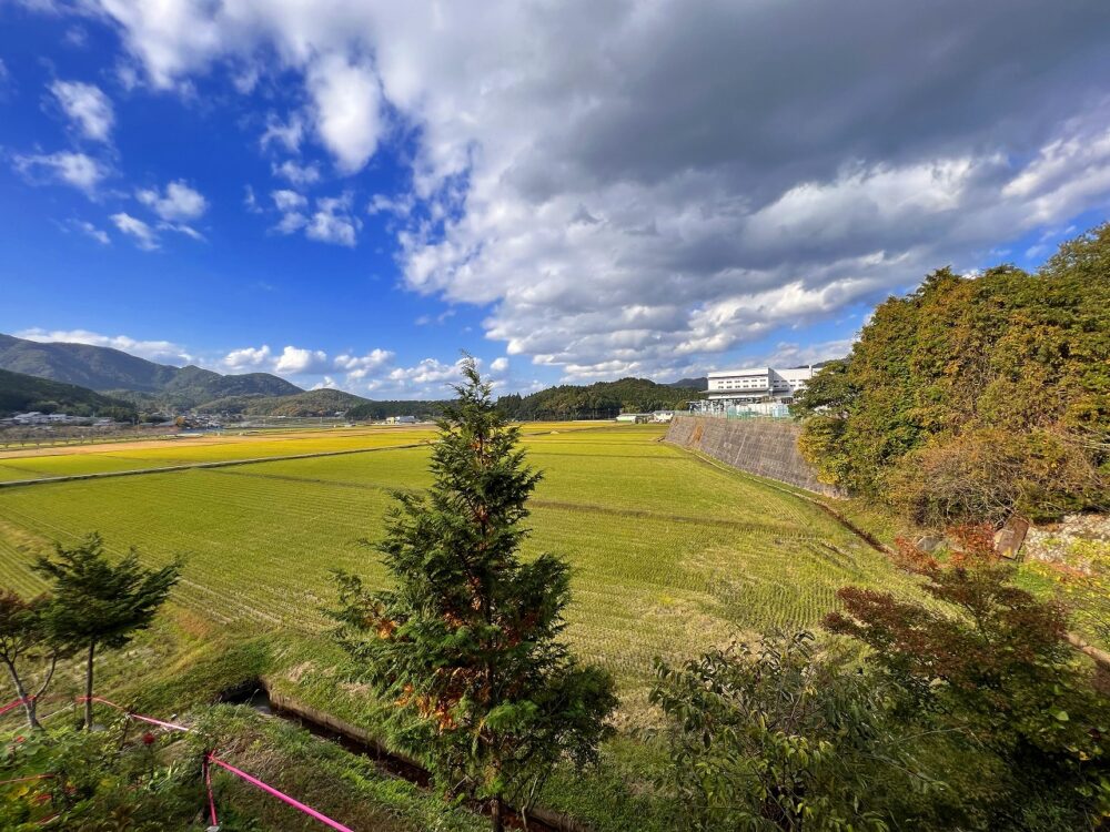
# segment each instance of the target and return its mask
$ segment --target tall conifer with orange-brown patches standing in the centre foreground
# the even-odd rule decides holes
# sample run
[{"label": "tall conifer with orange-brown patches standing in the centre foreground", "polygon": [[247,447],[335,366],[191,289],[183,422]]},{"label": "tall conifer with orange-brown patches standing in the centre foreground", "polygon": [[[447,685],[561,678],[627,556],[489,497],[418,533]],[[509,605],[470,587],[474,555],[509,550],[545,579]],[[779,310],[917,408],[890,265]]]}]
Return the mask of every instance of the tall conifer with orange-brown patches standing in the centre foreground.
[{"label": "tall conifer with orange-brown patches standing in the centre foreground", "polygon": [[401,706],[405,739],[441,782],[490,800],[501,830],[506,799],[529,802],[559,760],[596,758],[616,698],[612,677],[578,664],[559,639],[566,561],[518,556],[541,475],[473,359],[463,375],[438,423],[434,483],[396,495],[377,546],[393,589],[371,592],[341,574],[336,635]]}]

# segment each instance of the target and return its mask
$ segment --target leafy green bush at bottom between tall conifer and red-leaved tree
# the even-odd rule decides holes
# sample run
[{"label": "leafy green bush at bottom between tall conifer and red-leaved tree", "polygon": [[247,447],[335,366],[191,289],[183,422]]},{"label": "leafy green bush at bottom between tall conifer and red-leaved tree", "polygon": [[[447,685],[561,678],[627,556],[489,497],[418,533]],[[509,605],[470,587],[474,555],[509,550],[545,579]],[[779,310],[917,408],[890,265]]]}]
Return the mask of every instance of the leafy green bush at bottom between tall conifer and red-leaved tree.
[{"label": "leafy green bush at bottom between tall conifer and red-leaved tree", "polygon": [[669,783],[690,829],[887,829],[891,793],[928,791],[888,690],[809,632],[657,661]]}]

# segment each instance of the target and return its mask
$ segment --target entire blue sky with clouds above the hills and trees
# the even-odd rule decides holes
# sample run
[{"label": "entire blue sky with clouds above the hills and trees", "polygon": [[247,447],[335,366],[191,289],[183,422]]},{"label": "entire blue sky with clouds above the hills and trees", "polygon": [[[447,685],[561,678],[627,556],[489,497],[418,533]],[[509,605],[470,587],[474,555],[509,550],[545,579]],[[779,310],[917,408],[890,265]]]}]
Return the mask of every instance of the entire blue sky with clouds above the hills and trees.
[{"label": "entire blue sky with clouds above the hills and trees", "polygon": [[371,398],[844,355],[1110,204],[1104,0],[0,0],[0,332]]}]

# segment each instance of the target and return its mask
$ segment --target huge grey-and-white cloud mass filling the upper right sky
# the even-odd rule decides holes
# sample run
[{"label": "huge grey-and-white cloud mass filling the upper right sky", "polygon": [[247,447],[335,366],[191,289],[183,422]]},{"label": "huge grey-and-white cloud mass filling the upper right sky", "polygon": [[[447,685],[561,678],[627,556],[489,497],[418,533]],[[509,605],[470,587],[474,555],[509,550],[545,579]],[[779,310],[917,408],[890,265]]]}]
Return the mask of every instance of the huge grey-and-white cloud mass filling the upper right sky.
[{"label": "huge grey-and-white cloud mass filling the upper right sky", "polygon": [[395,121],[411,187],[369,207],[404,285],[575,377],[712,363],[1110,200],[1101,0],[100,4],[155,87],[269,50],[341,173]]}]

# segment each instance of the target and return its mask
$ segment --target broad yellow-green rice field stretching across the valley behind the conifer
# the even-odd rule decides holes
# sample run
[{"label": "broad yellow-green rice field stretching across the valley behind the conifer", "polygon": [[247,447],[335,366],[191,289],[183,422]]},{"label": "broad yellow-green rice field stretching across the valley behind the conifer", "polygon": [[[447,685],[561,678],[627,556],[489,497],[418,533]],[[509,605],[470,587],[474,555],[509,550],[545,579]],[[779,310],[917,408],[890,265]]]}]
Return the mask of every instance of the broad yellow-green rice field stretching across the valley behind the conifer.
[{"label": "broad yellow-green rice field stretching across the valley behind the conifer", "polygon": [[[626,688],[639,687],[655,656],[688,656],[738,631],[814,625],[846,584],[909,587],[818,508],[707,466],[662,435],[654,426],[525,428],[529,461],[545,475],[526,554],[569,559],[568,637]],[[384,581],[365,540],[380,534],[392,490],[427,485],[430,436],[305,432],[3,459],[0,476],[16,478],[373,451],[0,488],[0,585],[36,591],[28,564],[38,551],[98,530],[113,551],[135,546],[153,565],[183,557],[175,600],[193,615],[319,631],[333,601],[330,570]]]}]

